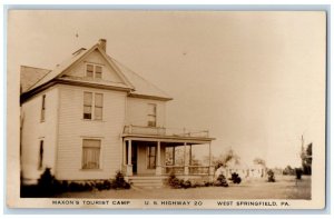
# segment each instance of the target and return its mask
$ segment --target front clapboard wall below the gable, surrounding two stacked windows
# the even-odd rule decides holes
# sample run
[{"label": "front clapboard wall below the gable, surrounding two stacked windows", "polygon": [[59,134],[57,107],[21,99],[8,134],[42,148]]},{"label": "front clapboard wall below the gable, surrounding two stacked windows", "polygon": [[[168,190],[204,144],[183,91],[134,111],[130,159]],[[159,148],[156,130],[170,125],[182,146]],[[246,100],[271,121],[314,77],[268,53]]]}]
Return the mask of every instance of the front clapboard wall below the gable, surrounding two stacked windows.
[{"label": "front clapboard wall below the gable, surrounding two stacked windows", "polygon": [[[102,121],[82,119],[84,91],[104,93]],[[60,87],[57,178],[67,180],[108,179],[121,163],[121,132],[126,92],[73,86]],[[82,139],[100,139],[100,169],[82,170]]]}]

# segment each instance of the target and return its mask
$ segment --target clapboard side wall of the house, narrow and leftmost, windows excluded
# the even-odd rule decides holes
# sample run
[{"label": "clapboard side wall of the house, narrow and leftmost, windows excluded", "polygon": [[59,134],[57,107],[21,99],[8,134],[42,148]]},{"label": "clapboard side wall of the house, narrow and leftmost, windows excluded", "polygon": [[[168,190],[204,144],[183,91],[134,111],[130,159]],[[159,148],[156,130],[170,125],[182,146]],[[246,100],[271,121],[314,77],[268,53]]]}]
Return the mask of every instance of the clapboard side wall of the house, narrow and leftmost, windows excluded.
[{"label": "clapboard side wall of the house, narrow and leftmost, windows excluded", "polygon": [[[41,122],[41,102],[46,94],[46,116]],[[22,104],[22,175],[24,182],[36,182],[45,168],[56,171],[58,88],[52,87]],[[39,148],[43,140],[43,168],[39,169]]]}]

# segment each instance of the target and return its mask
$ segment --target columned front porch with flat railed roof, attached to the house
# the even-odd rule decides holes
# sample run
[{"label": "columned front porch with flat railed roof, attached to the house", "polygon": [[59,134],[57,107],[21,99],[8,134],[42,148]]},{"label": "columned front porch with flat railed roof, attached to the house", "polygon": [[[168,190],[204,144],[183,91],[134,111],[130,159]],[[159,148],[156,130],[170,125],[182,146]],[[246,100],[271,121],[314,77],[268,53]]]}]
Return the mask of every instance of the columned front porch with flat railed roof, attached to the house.
[{"label": "columned front porch with flat railed roof, attached to the house", "polygon": [[[214,176],[208,131],[126,126],[122,135],[122,172],[127,178]],[[199,147],[206,162],[195,159]]]}]

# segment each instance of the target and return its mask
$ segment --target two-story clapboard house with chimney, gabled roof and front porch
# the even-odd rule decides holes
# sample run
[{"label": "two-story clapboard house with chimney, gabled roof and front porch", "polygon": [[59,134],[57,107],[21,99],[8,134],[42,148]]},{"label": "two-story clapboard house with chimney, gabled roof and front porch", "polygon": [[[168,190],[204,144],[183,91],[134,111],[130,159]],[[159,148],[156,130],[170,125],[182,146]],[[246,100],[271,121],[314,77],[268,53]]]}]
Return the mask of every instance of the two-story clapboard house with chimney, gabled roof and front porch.
[{"label": "two-story clapboard house with chimney, gabled roof and front porch", "polygon": [[106,47],[100,39],[53,70],[21,67],[22,182],[36,183],[46,168],[70,181],[110,179],[118,170],[138,183],[171,171],[213,176],[210,162],[191,166],[189,155],[193,145],[203,145],[210,157],[214,138],[166,128],[171,98],[109,57]]}]

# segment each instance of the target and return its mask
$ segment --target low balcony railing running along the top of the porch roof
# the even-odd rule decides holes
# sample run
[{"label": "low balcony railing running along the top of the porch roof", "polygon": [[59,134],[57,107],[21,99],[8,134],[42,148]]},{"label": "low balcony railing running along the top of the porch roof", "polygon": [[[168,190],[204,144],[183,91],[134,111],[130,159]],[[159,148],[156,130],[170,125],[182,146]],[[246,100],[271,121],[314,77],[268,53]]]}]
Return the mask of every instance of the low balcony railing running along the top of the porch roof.
[{"label": "low balcony railing running along the top of the porch roof", "polygon": [[170,136],[170,137],[203,137],[208,138],[208,130],[173,129],[165,127],[143,127],[125,126],[125,135],[149,135],[149,136]]}]

